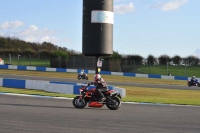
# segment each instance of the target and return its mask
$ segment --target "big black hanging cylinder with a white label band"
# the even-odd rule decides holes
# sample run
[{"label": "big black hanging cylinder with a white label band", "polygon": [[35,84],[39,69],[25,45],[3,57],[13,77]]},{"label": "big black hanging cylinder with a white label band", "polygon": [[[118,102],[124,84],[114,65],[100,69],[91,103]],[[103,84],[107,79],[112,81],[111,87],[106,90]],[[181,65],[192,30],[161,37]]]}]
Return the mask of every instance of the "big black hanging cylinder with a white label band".
[{"label": "big black hanging cylinder with a white label band", "polygon": [[82,54],[113,54],[113,0],[83,0]]}]

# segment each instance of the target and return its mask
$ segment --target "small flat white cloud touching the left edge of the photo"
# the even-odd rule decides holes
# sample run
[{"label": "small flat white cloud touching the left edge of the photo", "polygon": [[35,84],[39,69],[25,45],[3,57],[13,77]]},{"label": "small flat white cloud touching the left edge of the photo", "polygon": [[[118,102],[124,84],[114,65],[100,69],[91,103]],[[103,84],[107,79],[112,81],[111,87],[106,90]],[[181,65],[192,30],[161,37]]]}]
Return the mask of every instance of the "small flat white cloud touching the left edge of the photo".
[{"label": "small flat white cloud touching the left edge of the photo", "polygon": [[0,29],[13,29],[13,28],[18,28],[23,25],[24,25],[24,22],[21,22],[21,21],[14,21],[14,22],[6,21],[0,25]]}]

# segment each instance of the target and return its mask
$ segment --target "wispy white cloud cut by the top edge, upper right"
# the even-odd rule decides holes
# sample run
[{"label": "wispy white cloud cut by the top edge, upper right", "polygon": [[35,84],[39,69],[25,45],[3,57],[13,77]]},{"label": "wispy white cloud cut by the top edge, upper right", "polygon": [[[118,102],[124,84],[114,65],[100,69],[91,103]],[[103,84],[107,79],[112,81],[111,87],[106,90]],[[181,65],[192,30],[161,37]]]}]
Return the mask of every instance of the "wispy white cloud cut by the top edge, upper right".
[{"label": "wispy white cloud cut by the top edge, upper right", "polygon": [[178,9],[180,6],[186,4],[187,2],[188,2],[188,0],[171,0],[166,3],[159,2],[158,4],[153,5],[151,7],[158,8],[162,11],[171,11],[171,10]]}]

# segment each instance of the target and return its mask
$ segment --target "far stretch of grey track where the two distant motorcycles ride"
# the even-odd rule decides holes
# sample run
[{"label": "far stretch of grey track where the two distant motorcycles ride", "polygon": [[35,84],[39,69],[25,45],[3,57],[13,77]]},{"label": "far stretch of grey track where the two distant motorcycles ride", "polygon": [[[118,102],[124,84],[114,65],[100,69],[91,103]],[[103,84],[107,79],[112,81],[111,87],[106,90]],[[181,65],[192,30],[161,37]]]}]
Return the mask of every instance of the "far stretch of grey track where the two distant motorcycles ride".
[{"label": "far stretch of grey track where the two distant motorcycles ride", "polygon": [[[2,78],[14,78],[14,79],[29,79],[29,80],[45,80],[45,81],[61,81],[61,82],[76,82],[76,83],[88,83],[90,80],[78,80],[78,79],[64,79],[64,78],[49,78],[39,76],[21,76],[11,74],[0,74]],[[111,86],[135,86],[135,87],[146,87],[146,88],[165,88],[165,89],[179,89],[179,90],[200,90],[199,87],[188,87],[185,82],[185,86],[176,85],[161,85],[161,84],[140,84],[140,83],[124,83],[124,82],[106,82]]]}]

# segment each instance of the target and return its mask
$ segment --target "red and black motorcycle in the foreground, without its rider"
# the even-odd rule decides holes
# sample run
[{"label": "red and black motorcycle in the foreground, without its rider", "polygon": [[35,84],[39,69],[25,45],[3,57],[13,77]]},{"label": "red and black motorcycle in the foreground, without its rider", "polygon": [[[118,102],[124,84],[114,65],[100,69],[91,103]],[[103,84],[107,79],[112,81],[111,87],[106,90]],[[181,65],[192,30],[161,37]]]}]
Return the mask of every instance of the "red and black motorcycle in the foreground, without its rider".
[{"label": "red and black motorcycle in the foreground, without its rider", "polygon": [[76,96],[72,103],[76,108],[84,108],[87,103],[88,107],[101,108],[106,105],[110,110],[117,110],[121,106],[121,95],[116,90],[103,91],[106,100],[99,102],[100,95],[96,92],[96,88],[88,90],[89,86],[81,86],[80,95]]}]

